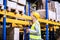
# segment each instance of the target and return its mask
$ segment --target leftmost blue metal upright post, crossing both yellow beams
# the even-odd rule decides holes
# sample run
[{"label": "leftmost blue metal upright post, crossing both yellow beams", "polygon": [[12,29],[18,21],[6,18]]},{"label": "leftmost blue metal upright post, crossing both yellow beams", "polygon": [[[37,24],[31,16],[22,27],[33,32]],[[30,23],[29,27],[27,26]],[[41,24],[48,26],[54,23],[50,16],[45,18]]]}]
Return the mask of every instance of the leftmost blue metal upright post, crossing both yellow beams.
[{"label": "leftmost blue metal upright post, crossing both yellow beams", "polygon": [[7,0],[3,0],[4,4],[4,17],[3,17],[3,40],[6,40],[6,5],[7,5]]}]

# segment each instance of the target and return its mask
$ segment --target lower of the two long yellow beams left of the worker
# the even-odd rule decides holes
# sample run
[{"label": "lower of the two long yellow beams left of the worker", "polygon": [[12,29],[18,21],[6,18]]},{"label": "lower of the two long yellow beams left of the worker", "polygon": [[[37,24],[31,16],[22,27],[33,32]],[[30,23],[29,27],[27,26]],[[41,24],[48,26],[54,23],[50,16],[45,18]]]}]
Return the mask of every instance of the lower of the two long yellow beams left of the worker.
[{"label": "lower of the two long yellow beams left of the worker", "polygon": [[[0,19],[0,22],[3,22],[3,18]],[[20,24],[20,25],[29,25],[28,21],[15,20],[15,19],[9,19],[9,18],[6,18],[6,22],[7,23],[16,23],[16,24]]]}]

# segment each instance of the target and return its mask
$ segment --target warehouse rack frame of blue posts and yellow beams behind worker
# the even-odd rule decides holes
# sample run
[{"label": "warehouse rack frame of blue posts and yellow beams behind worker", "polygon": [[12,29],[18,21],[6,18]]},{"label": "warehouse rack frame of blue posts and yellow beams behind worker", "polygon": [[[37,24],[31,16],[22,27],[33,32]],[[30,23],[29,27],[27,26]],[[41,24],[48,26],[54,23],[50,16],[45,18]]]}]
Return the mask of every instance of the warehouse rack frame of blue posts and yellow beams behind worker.
[{"label": "warehouse rack frame of blue posts and yellow beams behind worker", "polygon": [[[26,25],[30,25],[29,21],[18,21],[18,20],[13,20],[13,19],[6,18],[6,15],[11,16],[11,14],[7,14],[6,13],[6,5],[7,5],[7,0],[4,0],[4,12],[5,13],[3,13],[3,12],[0,11],[0,15],[1,14],[4,15],[4,17],[2,19],[0,19],[0,22],[3,22],[3,40],[6,40],[6,22],[17,23],[17,24],[21,24],[21,25],[25,25],[24,24],[24,22],[25,22],[25,23],[27,23]],[[25,7],[24,14],[26,14],[26,7]],[[12,15],[12,16],[16,17],[16,15]],[[29,16],[30,16],[30,1],[28,2],[28,16],[27,16],[27,18],[25,18],[26,16],[18,16],[18,17],[22,17],[22,18],[28,19],[28,18],[30,18]],[[29,20],[32,20],[32,19],[29,19]],[[60,26],[60,23],[58,23],[58,22],[52,22],[52,21],[48,20],[48,0],[46,0],[46,19],[38,19],[38,20],[40,22],[42,22],[42,23],[46,23],[46,40],[49,40],[49,31],[48,31],[49,25],[48,24]],[[24,33],[26,34],[26,30],[24,30],[24,31],[25,31]],[[24,38],[24,40],[26,40],[26,38]],[[29,34],[28,34],[28,40],[29,40]]]}]

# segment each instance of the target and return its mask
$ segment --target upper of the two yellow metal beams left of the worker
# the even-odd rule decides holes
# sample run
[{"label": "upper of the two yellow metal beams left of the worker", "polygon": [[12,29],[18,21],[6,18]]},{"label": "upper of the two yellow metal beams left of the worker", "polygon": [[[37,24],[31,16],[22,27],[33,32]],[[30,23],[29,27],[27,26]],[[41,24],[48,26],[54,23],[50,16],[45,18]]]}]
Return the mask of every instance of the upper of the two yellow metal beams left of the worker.
[{"label": "upper of the two yellow metal beams left of the worker", "polygon": [[[0,11],[0,14],[4,15],[4,11]],[[26,19],[26,20],[32,20],[32,18],[30,16],[21,15],[21,14],[14,14],[13,12],[7,12],[7,11],[6,11],[6,16],[11,16],[11,17],[15,17],[15,18],[22,18],[22,19]]]}]

